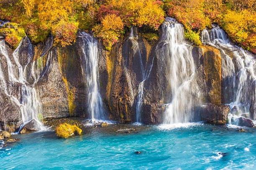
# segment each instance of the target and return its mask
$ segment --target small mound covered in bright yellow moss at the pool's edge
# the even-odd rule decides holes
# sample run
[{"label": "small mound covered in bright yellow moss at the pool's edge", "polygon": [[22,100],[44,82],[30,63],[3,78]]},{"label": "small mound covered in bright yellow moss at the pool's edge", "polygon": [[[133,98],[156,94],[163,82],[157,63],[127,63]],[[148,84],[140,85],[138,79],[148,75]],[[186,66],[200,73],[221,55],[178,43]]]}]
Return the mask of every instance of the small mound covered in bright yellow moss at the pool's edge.
[{"label": "small mound covered in bright yellow moss at the pool's edge", "polygon": [[68,138],[73,135],[81,135],[82,129],[76,125],[69,125],[67,123],[61,124],[56,128],[56,135],[60,138]]}]

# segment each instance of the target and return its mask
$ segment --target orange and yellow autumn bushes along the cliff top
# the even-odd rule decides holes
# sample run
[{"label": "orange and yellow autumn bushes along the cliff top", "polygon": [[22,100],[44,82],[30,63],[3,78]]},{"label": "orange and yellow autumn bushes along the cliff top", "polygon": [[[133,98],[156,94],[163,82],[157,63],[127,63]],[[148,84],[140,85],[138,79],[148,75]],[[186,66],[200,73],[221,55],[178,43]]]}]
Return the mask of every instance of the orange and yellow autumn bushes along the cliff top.
[{"label": "orange and yellow autumn bushes along the cliff top", "polygon": [[[218,23],[242,47],[256,53],[255,0],[0,0],[0,20],[18,23],[31,42],[71,45],[78,28],[94,31],[110,50],[132,25],[157,30],[165,16],[176,18],[185,38],[201,45],[200,32]],[[4,32],[6,30],[2,30]],[[16,47],[21,35],[9,30],[6,42]],[[144,34],[147,40],[157,36]]]}]

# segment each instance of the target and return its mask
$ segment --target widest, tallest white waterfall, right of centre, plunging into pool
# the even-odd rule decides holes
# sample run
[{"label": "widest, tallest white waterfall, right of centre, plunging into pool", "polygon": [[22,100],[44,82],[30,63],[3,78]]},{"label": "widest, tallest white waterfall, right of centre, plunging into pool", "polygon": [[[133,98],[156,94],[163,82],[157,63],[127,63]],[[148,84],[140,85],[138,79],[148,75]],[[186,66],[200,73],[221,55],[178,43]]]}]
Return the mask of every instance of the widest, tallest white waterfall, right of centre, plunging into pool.
[{"label": "widest, tallest white waterfall, right of centre, plunging into pool", "polygon": [[[191,81],[195,64],[190,45],[184,41],[184,30],[174,18],[166,18],[163,24],[165,48],[162,56],[167,57],[166,77],[169,81],[169,104],[164,111],[164,124],[189,122],[193,120],[195,101]],[[197,90],[196,90],[197,91]],[[196,92],[198,93],[198,92]]]}]

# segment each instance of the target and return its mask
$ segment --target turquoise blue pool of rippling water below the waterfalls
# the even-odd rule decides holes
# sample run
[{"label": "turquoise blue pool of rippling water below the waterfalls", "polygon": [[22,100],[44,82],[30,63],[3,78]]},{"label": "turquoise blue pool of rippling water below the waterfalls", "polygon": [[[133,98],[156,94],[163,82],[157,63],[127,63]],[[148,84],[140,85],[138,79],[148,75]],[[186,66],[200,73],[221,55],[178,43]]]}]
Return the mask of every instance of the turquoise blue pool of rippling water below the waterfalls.
[{"label": "turquoise blue pool of rippling water below the waterfalls", "polygon": [[236,128],[204,124],[165,128],[68,139],[56,138],[54,132],[16,135],[18,143],[0,149],[0,169],[256,169],[254,129],[239,133]]}]

